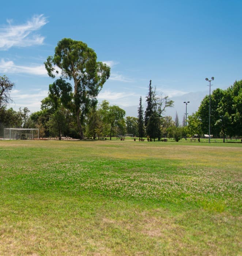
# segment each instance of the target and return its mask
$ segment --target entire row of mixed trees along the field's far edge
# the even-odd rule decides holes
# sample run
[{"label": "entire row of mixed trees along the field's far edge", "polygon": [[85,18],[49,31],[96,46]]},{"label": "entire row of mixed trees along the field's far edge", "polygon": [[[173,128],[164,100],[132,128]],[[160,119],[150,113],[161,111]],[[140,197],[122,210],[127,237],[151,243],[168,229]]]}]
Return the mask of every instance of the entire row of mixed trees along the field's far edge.
[{"label": "entire row of mixed trees along the field's far edge", "polygon": [[[0,132],[3,128],[39,128],[42,137],[69,136],[72,138],[111,139],[118,134],[160,140],[208,133],[209,96],[205,96],[196,113],[179,124],[165,116],[166,108],[174,102],[159,94],[151,80],[144,111],[140,97],[137,117],[125,117],[125,111],[110,106],[108,101],[98,104],[97,95],[109,79],[110,67],[97,61],[97,55],[87,44],[64,38],[58,42],[54,56],[45,62],[50,77],[60,78],[49,85],[48,97],[41,101],[41,110],[30,114],[28,108],[7,109],[12,102],[10,91],[14,87],[6,76],[0,76]],[[59,74],[59,72],[61,74]],[[74,86],[67,82],[72,80]],[[213,136],[241,136],[242,133],[242,81],[236,81],[227,90],[216,89],[211,94],[211,134]],[[185,123],[188,122],[186,126]],[[0,134],[2,135],[2,134]]]}]

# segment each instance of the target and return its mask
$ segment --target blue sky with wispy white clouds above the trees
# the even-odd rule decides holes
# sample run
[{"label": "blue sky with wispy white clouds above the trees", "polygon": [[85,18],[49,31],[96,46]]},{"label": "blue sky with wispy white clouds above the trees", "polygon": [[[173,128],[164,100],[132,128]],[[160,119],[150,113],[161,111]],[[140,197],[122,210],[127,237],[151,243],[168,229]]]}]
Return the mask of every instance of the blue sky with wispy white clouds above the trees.
[{"label": "blue sky with wispy white clouds above the trees", "polygon": [[226,89],[242,79],[241,11],[241,0],[3,1],[0,75],[15,83],[10,106],[40,109],[54,82],[43,63],[64,37],[110,65],[98,99],[111,105],[135,106],[140,96],[145,105],[150,79],[169,97],[209,93],[211,76],[213,89]]}]

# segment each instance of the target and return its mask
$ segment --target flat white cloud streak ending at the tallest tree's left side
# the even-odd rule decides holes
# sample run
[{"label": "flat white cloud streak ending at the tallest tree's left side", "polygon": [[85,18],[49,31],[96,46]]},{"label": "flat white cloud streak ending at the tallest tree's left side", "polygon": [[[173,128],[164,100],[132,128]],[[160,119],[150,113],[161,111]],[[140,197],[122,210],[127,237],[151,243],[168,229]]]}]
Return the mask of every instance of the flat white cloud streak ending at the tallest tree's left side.
[{"label": "flat white cloud streak ending at the tallest tree's left side", "polygon": [[16,65],[13,61],[5,61],[1,59],[0,61],[0,72],[4,74],[15,73],[15,74],[30,74],[30,75],[40,75],[48,76],[45,69],[45,65],[36,65],[34,67]]}]

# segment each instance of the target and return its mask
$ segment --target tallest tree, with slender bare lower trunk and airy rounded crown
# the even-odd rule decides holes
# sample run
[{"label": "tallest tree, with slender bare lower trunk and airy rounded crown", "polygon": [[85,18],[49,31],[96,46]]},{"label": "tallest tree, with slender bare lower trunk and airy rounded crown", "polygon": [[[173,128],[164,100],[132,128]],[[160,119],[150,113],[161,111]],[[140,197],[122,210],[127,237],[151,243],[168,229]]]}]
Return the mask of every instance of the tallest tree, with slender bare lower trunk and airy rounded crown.
[{"label": "tallest tree, with slender bare lower trunk and airy rounded crown", "polygon": [[96,97],[109,78],[110,67],[97,62],[96,53],[87,44],[70,38],[59,41],[54,56],[49,56],[45,62],[45,68],[52,78],[58,74],[56,67],[61,69],[62,78],[73,79],[74,90],[69,105],[77,118],[80,139],[84,139],[84,116],[97,104]]}]

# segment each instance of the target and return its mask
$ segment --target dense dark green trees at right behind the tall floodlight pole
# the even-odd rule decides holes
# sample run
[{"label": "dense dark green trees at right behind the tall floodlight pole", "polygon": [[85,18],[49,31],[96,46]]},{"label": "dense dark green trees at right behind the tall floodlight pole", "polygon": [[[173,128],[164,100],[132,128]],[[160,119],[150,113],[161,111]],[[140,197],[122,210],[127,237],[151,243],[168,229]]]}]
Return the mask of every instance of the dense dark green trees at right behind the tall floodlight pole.
[{"label": "dense dark green trees at right behind the tall floodlight pole", "polygon": [[[235,81],[226,90],[216,89],[210,97],[210,128],[215,138],[242,136],[242,80]],[[196,113],[188,117],[188,129],[191,135],[200,138],[208,134],[209,95],[205,96]]]}]

